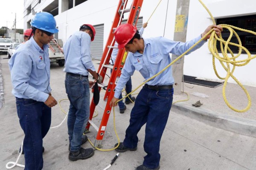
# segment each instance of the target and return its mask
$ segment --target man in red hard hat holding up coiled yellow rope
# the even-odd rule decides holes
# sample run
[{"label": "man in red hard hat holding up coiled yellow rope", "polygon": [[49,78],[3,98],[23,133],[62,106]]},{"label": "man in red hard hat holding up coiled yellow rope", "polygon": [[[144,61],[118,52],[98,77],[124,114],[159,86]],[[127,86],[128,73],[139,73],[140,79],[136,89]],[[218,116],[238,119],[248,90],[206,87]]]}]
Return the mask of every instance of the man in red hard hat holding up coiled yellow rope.
[{"label": "man in red hard hat holding up coiled yellow rope", "polygon": [[[128,53],[121,77],[117,82],[114,97],[110,102],[111,107],[116,106],[116,101],[125,83],[135,70],[140,71],[145,80],[153,77],[172,62],[170,53],[183,54],[211,29],[216,31],[218,36],[223,31],[221,26],[212,25],[191,41],[175,42],[165,37],[141,38],[137,28],[131,24],[118,26],[114,32],[115,40],[119,44],[118,48],[125,48],[131,53]],[[204,45],[209,37],[210,35],[204,41],[199,42],[189,53]],[[160,169],[160,140],[172,106],[173,84],[171,66],[148,81],[137,96],[131,110],[130,124],[125,131],[125,139],[116,148],[118,152],[137,150],[139,141],[137,133],[146,124],[144,150],[147,155],[144,157],[143,164],[135,170]]]}]

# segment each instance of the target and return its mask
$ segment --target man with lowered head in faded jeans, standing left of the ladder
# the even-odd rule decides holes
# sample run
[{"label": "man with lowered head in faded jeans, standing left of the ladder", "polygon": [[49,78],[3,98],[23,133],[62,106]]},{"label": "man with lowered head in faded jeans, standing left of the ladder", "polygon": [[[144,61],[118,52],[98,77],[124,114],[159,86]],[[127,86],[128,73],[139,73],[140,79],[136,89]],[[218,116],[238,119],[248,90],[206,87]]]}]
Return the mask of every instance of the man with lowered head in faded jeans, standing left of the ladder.
[{"label": "man with lowered head in faded jeans, standing left of the ladder", "polygon": [[88,159],[94,154],[93,148],[81,147],[87,141],[83,135],[90,116],[90,87],[95,83],[89,81],[89,73],[98,83],[102,82],[93,65],[90,53],[90,43],[94,40],[96,31],[90,24],[83,24],[79,31],[72,34],[63,46],[66,72],[65,87],[70,109],[67,117],[69,135],[69,156],[71,161]]}]

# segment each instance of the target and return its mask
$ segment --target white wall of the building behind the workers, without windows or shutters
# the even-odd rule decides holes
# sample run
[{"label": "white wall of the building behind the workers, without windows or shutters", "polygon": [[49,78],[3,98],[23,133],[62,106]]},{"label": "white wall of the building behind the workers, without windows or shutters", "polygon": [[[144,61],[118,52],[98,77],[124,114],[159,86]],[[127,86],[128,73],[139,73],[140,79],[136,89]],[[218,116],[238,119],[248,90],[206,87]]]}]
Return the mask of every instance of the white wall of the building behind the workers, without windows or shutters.
[{"label": "white wall of the building behind the workers, without windows or shutters", "polygon": [[[43,8],[52,2],[53,0],[42,0],[41,4],[35,6],[35,12],[42,11]],[[62,8],[67,7],[67,4],[62,4],[66,3],[66,1],[58,0],[58,2],[59,14],[55,16],[55,19],[59,29],[59,39],[66,42],[67,38],[73,34],[74,31],[78,31],[79,26],[84,23],[90,23],[92,25],[104,24],[105,46],[116,12],[117,0],[87,0],[67,11],[61,9],[61,6]],[[159,1],[156,0],[144,0],[140,12],[140,17],[143,17],[143,23],[151,16],[158,2]],[[129,7],[131,3],[132,0],[129,0],[127,7]],[[252,5],[254,4],[254,0],[215,0],[214,2],[212,2],[212,0],[204,0],[204,3],[215,18],[256,14],[256,8]],[[143,37],[164,36],[173,39],[176,6],[176,0],[163,0],[149,20],[148,27],[145,29]],[[127,17],[128,14],[125,14],[125,18]],[[31,18],[32,13],[24,18],[24,26],[27,26],[26,22]],[[210,16],[201,3],[197,0],[190,0],[186,40],[191,40],[199,36],[207,26],[211,24]],[[24,27],[24,29],[26,29],[26,27]],[[241,58],[246,58],[246,55],[242,54]],[[256,69],[254,67],[255,64],[256,59],[252,60],[246,66],[236,68],[234,75],[242,84],[256,86],[256,78],[252,75]],[[216,68],[221,76],[226,76],[226,71],[224,71],[218,61],[216,61]],[[212,68],[212,55],[209,53],[207,43],[202,48],[185,57],[184,74],[208,79],[218,79]],[[229,79],[229,82],[234,82],[234,80]]]}]

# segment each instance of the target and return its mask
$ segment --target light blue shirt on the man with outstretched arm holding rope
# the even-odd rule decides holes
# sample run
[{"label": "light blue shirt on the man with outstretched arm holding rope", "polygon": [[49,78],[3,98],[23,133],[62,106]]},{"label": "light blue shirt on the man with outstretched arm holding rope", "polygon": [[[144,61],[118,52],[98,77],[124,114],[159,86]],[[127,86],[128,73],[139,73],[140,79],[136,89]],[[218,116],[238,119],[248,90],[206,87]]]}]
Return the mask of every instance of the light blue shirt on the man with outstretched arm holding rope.
[{"label": "light blue shirt on the man with outstretched arm holding rope", "polygon": [[[126,82],[134,74],[134,71],[140,71],[140,74],[145,80],[153,77],[158,72],[162,71],[167,65],[172,62],[169,53],[181,55],[192,45],[194,45],[201,36],[188,41],[188,42],[175,42],[164,37],[149,38],[144,40],[144,51],[140,54],[138,51],[135,53],[128,53],[125,65],[122,69],[122,74],[116,85],[114,97],[118,98]],[[201,41],[189,53],[200,48],[207,41]],[[187,54],[189,54],[187,53]],[[144,81],[145,81],[144,80]],[[172,66],[163,71],[154,79],[147,82],[148,85],[172,85],[174,78],[172,76]]]}]

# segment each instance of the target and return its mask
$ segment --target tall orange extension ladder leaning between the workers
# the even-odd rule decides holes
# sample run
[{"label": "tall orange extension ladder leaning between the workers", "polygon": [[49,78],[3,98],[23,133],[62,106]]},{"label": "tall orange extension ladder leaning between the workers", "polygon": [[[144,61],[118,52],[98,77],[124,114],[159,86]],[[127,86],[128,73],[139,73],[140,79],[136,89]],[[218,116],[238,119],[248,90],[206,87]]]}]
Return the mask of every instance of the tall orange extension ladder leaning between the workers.
[{"label": "tall orange extension ladder leaning between the workers", "polygon": [[[131,8],[126,8],[128,0],[119,0],[117,9],[116,9],[116,14],[113,20],[113,24],[109,33],[108,41],[105,45],[104,52],[102,54],[102,59],[99,65],[98,73],[103,77],[103,83],[99,84],[99,91],[101,91],[101,88],[106,90],[105,96],[104,96],[104,101],[106,101],[106,107],[105,111],[102,116],[102,121],[99,126],[99,128],[96,128],[98,130],[98,134],[96,136],[96,141],[94,143],[95,147],[101,147],[102,139],[105,133],[105,129],[108,123],[108,118],[111,113],[111,107],[109,103],[111,102],[112,97],[114,96],[115,93],[115,87],[116,87],[116,82],[118,81],[122,68],[125,64],[125,59],[127,56],[127,52],[125,51],[125,48],[119,49],[118,54],[116,56],[116,61],[114,65],[109,65],[110,59],[111,59],[111,53],[113,51],[113,48],[117,48],[114,46],[115,41],[114,39],[114,29],[120,25],[122,22],[123,14],[126,12],[129,12],[129,16],[127,19],[127,23],[132,24],[133,26],[136,26],[141,6],[143,3],[143,0],[133,0],[131,4]],[[105,73],[107,71],[107,68],[113,69],[112,74],[110,77],[110,80],[108,82],[108,85],[104,85],[104,78],[105,78]],[[109,100],[108,100],[109,99]],[[84,133],[87,133],[90,128],[90,124],[93,124],[91,121],[93,118],[93,113],[95,110],[95,104],[92,102],[90,104],[90,117],[89,117],[89,122],[87,123],[87,126],[85,127]]]}]

